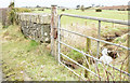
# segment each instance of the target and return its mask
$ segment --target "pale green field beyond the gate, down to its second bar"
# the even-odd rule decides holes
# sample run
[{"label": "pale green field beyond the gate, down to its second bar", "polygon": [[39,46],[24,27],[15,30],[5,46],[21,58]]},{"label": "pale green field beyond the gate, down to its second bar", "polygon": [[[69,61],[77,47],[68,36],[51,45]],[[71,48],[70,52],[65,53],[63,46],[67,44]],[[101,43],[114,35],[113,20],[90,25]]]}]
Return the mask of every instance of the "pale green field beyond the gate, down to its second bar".
[{"label": "pale green field beyond the gate, down to its second bar", "polygon": [[[34,13],[51,13],[51,10],[44,9],[44,11],[32,11]],[[95,10],[86,10],[82,12],[81,10],[66,10],[61,11],[57,10],[58,14],[67,13],[67,14],[75,14],[75,15],[83,15],[83,16],[93,16],[93,17],[102,17],[102,18],[112,18],[112,19],[120,19],[120,20],[128,20],[128,11],[109,11],[103,10],[102,12],[95,12]],[[93,36],[98,37],[98,27],[99,22],[92,19],[82,19],[76,17],[68,17],[63,16],[61,19],[61,26],[68,30],[74,30],[81,32],[86,36]],[[83,27],[83,29],[82,29]],[[86,28],[86,29],[84,29]],[[83,32],[81,31],[83,30]],[[90,31],[88,34],[88,30]],[[104,38],[106,37],[114,37],[115,32],[121,36],[126,33],[128,30],[128,26],[113,24],[113,23],[101,23],[101,36]],[[90,34],[91,33],[91,34]]]}]

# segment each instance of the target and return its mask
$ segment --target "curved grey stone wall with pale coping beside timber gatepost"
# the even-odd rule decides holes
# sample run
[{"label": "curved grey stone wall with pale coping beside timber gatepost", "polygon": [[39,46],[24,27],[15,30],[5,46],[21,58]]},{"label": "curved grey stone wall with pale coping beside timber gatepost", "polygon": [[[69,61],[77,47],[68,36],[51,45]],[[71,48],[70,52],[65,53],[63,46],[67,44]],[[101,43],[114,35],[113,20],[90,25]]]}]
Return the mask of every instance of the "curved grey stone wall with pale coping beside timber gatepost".
[{"label": "curved grey stone wall with pale coping beside timber gatepost", "polygon": [[17,22],[25,37],[50,43],[51,15],[46,13],[17,13]]}]

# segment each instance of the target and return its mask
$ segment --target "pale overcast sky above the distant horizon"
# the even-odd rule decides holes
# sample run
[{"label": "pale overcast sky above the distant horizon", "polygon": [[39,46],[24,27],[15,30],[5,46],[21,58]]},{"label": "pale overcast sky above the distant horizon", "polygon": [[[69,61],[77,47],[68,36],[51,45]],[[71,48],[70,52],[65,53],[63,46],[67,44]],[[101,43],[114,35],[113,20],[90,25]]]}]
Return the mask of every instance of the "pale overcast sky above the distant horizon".
[{"label": "pale overcast sky above the distant horizon", "polygon": [[[6,8],[11,0],[0,0],[0,8]],[[75,8],[76,5],[89,6],[96,5],[127,5],[129,0],[15,0],[15,6],[50,6],[57,4],[60,6]]]}]

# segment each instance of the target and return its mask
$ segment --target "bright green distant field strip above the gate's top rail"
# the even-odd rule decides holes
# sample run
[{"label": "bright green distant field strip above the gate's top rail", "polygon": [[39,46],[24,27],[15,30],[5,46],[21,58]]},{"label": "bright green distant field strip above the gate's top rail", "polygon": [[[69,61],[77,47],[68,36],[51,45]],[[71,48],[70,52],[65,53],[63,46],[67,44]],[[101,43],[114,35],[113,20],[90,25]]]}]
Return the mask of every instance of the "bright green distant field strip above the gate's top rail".
[{"label": "bright green distant field strip above the gate's top rail", "polygon": [[[34,13],[51,13],[51,10],[46,9],[44,11],[34,11]],[[104,17],[104,18],[114,18],[114,19],[128,19],[128,11],[109,11],[103,10],[102,12],[95,12],[94,10],[86,10],[84,12],[80,10],[66,10],[62,12],[57,11],[58,14],[68,13],[76,15],[86,15],[86,16],[94,16],[94,17]]]}]

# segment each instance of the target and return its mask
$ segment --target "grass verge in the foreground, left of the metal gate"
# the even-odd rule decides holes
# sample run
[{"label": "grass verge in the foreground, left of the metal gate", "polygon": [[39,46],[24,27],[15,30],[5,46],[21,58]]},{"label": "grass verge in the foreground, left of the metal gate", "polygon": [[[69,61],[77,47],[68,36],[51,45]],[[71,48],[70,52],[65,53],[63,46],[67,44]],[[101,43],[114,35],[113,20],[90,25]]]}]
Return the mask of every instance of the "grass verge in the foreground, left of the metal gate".
[{"label": "grass verge in the foreground, left of the metal gate", "polygon": [[58,66],[44,44],[25,39],[20,26],[0,30],[4,78],[8,81],[78,81]]}]

